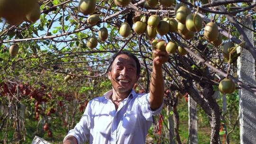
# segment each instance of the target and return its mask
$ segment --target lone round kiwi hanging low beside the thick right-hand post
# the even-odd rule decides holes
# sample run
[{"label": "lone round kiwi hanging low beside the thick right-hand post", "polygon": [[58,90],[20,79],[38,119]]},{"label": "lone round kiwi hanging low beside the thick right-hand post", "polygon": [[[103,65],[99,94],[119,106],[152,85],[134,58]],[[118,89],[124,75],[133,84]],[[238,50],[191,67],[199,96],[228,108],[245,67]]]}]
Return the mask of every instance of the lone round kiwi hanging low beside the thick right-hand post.
[{"label": "lone round kiwi hanging low beside the thick right-hand post", "polygon": [[228,79],[225,78],[219,82],[219,91],[223,94],[231,94],[236,90],[236,84]]}]

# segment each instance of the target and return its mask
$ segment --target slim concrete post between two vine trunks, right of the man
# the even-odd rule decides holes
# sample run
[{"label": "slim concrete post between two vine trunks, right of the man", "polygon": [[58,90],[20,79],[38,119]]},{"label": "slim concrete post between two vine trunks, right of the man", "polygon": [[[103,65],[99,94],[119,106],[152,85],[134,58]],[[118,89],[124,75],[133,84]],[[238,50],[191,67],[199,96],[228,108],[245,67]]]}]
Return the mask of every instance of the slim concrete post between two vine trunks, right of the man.
[{"label": "slim concrete post between two vine trunks, right of the man", "polygon": [[196,102],[189,95],[188,97],[188,113],[189,113],[189,144],[198,144],[197,141],[197,110]]}]

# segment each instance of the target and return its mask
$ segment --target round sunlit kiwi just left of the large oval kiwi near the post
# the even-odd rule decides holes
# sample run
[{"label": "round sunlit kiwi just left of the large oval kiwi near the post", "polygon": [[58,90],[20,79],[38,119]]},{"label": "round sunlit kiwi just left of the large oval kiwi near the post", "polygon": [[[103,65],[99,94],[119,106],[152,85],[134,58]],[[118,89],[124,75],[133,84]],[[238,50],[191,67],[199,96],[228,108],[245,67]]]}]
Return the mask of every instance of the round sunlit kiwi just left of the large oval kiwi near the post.
[{"label": "round sunlit kiwi just left of the large oval kiwi near the post", "polygon": [[189,14],[186,18],[186,27],[189,31],[199,32],[202,28],[202,18],[197,14]]}]

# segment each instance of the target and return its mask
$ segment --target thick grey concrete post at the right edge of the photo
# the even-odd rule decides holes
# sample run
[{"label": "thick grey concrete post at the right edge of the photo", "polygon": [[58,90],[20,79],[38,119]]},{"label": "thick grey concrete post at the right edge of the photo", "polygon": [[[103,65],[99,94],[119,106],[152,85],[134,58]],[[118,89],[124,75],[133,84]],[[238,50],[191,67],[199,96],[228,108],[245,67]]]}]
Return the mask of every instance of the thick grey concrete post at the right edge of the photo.
[{"label": "thick grey concrete post at the right edge of the photo", "polygon": [[[243,25],[253,29],[252,18],[243,21]],[[243,27],[254,44],[253,32]],[[246,50],[238,47],[238,79],[246,84],[255,85],[255,60]],[[256,144],[256,97],[247,90],[239,90],[240,143]]]}]

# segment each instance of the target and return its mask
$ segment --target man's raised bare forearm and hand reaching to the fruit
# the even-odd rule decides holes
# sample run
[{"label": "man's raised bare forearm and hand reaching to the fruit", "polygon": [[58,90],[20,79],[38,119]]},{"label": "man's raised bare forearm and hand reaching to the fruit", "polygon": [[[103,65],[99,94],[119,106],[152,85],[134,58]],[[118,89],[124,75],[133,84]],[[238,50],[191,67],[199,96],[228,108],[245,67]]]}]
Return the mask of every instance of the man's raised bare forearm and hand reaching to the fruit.
[{"label": "man's raised bare forearm and hand reaching to the fruit", "polygon": [[164,100],[165,84],[163,79],[162,65],[168,61],[166,51],[153,50],[153,72],[150,83],[149,103],[152,110],[160,108]]}]

